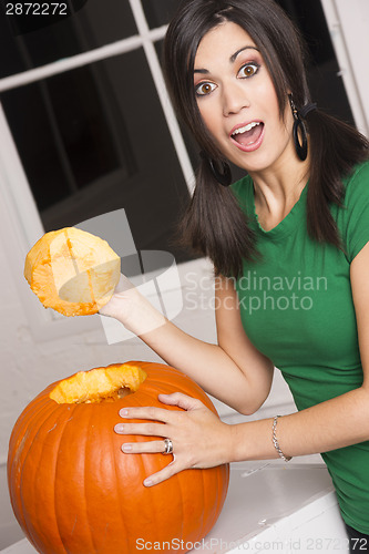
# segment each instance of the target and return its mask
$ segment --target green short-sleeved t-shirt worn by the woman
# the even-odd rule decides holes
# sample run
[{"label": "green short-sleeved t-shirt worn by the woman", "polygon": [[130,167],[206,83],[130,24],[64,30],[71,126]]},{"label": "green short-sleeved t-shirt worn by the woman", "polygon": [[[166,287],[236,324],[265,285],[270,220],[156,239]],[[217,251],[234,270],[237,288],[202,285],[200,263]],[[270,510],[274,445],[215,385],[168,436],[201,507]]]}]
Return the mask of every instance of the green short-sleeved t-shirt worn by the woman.
[{"label": "green short-sleeved t-shirt worn by the woman", "polygon": [[[260,261],[244,261],[237,280],[243,326],[256,348],[281,371],[298,410],[362,383],[349,271],[369,242],[369,162],[344,184],[345,206],[331,206],[331,214],[346,253],[309,238],[308,185],[291,212],[269,232],[255,214],[250,177],[233,185],[263,256]],[[321,455],[344,520],[369,534],[369,441]]]}]

